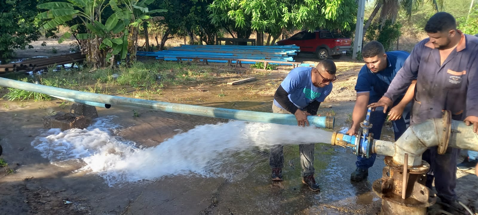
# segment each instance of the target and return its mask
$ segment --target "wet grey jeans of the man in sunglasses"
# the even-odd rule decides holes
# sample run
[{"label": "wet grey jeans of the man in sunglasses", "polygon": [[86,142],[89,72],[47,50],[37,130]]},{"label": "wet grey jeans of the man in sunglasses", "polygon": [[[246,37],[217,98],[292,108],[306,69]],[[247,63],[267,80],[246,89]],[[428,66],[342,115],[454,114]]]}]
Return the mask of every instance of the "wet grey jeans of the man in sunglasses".
[{"label": "wet grey jeans of the man in sunglasses", "polygon": [[[272,104],[273,113],[291,114]],[[271,149],[271,156],[269,158],[269,165],[271,168],[284,168],[284,153],[282,145],[274,145]],[[302,166],[301,176],[314,175],[314,149],[315,144],[299,144],[300,163]]]}]

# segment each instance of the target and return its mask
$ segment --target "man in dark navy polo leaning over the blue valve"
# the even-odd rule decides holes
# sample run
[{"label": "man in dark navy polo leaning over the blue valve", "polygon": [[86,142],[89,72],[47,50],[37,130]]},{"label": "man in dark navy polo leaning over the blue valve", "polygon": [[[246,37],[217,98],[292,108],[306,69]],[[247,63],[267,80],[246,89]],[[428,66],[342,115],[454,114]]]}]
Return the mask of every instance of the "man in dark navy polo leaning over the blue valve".
[{"label": "man in dark navy polo leaning over the blue valve", "polygon": [[[365,119],[367,114],[367,105],[377,102],[391,83],[391,80],[397,75],[402,68],[408,53],[404,51],[385,52],[383,45],[377,41],[367,43],[362,49],[362,57],[365,65],[359,72],[357,78],[357,100],[352,113],[352,125],[348,129],[348,135],[357,135],[360,129],[360,122]],[[412,84],[407,91],[406,96],[397,100],[395,106],[388,113],[389,120],[392,120],[395,140],[397,140],[407,125],[410,125],[411,101],[413,99],[413,90],[415,85]],[[403,115],[403,117],[402,117]],[[383,113],[383,109],[376,109],[370,113],[370,123],[372,128],[369,132],[373,134],[375,140],[380,140],[383,123],[387,115]],[[350,180],[359,182],[367,178],[369,168],[373,166],[377,154],[371,154],[370,158],[357,156],[357,169],[350,175]]]}]

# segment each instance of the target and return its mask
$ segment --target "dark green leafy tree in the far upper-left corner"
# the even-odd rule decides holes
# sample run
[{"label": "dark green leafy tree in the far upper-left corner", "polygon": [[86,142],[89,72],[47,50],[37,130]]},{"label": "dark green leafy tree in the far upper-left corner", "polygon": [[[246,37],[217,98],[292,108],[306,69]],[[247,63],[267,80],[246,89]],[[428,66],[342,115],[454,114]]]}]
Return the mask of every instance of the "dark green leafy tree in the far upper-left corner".
[{"label": "dark green leafy tree in the far upper-left corner", "polygon": [[36,25],[38,0],[0,0],[0,61],[7,64],[14,49],[32,48],[30,42],[39,38]]}]

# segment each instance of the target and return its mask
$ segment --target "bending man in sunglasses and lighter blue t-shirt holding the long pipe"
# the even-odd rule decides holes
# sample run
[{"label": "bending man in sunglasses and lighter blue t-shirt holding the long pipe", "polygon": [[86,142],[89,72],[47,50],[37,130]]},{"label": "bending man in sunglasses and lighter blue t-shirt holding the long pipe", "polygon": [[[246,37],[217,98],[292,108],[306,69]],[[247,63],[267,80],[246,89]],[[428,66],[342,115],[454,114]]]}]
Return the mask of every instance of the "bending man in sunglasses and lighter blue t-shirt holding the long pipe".
[{"label": "bending man in sunglasses and lighter blue t-shirt holding the long pipe", "polygon": [[[337,67],[331,60],[320,62],[317,67],[297,67],[289,72],[277,88],[272,104],[272,112],[294,114],[298,126],[309,126],[307,116],[316,115],[321,102],[332,91],[336,80]],[[302,166],[302,182],[311,190],[319,191],[320,186],[314,178],[314,144],[300,144],[299,154]],[[271,149],[269,165],[272,168],[272,181],[282,181],[284,167],[283,146]]]}]

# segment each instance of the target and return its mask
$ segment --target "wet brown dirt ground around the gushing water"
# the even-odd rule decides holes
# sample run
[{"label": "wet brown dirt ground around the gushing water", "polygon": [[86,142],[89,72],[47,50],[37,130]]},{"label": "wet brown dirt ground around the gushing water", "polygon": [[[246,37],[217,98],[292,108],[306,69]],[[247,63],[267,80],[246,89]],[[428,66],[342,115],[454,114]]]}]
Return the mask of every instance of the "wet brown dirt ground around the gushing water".
[{"label": "wet brown dirt ground around the gushing water", "polygon": [[[33,44],[33,50],[17,52],[19,58],[53,56],[69,53],[69,44],[56,41]],[[51,52],[52,47],[57,50]],[[313,55],[300,54],[298,61],[316,64]],[[338,80],[332,94],[321,105],[319,113],[336,117],[337,127],[347,127],[355,100],[355,81],[361,62],[349,58],[334,60]],[[290,68],[280,67],[270,75],[239,86],[215,87],[171,86],[163,91],[163,101],[227,107],[255,111],[270,111],[272,95],[237,100],[234,95],[281,81]],[[239,78],[239,77],[235,77]],[[228,80],[223,80],[228,81]],[[178,94],[183,92],[183,94]],[[225,97],[217,97],[224,92]],[[3,94],[3,93],[2,93]],[[261,95],[261,94],[259,94]],[[180,98],[180,99],[178,99]],[[0,145],[3,158],[14,173],[0,176],[0,215],[246,215],[246,214],[325,214],[378,215],[380,199],[371,191],[371,183],[381,177],[383,157],[377,158],[369,180],[351,184],[350,171],[355,169],[355,157],[341,148],[317,146],[316,151],[332,151],[316,155],[317,161],[329,162],[334,169],[318,170],[323,190],[312,193],[291,178],[281,186],[270,184],[268,155],[258,155],[257,161],[244,164],[232,178],[204,178],[196,175],[167,176],[154,183],[109,187],[97,175],[73,172],[78,166],[58,167],[44,159],[31,145],[43,131],[42,118],[69,107],[59,106],[58,100],[45,102],[11,102],[2,100],[0,107]],[[70,103],[71,104],[71,103]],[[148,109],[139,110],[140,117],[131,115],[132,108],[98,108],[99,116],[115,115],[115,123],[126,129],[122,138],[145,147],[156,146],[180,130],[196,125],[217,123],[223,119],[173,114]],[[387,130],[387,128],[385,128]],[[391,134],[390,128],[385,136]],[[386,137],[391,138],[391,136]],[[296,155],[295,155],[296,156]],[[294,158],[296,160],[296,158]],[[291,161],[295,161],[291,158]],[[290,170],[292,171],[292,170]],[[456,191],[460,200],[478,211],[478,183],[472,172],[457,172]],[[65,204],[64,201],[72,202]]]}]

